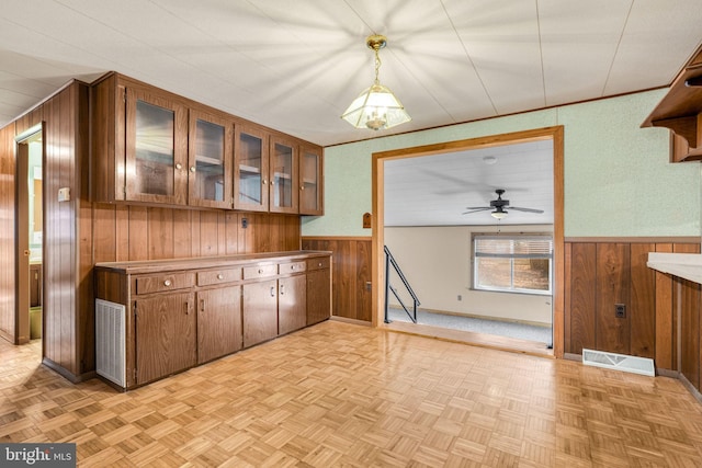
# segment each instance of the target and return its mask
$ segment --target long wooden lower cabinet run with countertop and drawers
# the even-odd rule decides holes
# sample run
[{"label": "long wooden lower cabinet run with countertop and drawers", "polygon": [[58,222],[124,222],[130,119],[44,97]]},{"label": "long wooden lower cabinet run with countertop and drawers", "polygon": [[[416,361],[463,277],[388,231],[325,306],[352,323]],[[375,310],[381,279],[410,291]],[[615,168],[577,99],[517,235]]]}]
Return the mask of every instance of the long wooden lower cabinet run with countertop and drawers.
[{"label": "long wooden lower cabinet run with countertop and drawers", "polygon": [[97,373],[126,390],[328,319],[330,259],[299,251],[99,263],[95,313],[104,316],[95,323],[115,328],[100,331],[109,343],[98,346]]}]

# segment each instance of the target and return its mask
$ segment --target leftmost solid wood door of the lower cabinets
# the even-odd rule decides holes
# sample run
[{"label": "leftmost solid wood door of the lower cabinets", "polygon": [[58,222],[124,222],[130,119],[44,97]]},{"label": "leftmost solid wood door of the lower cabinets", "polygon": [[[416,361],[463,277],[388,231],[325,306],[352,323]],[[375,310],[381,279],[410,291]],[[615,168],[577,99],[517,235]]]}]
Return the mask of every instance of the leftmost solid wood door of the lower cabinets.
[{"label": "leftmost solid wood door of the lower cabinets", "polygon": [[135,300],[136,384],[192,367],[197,362],[193,293],[159,294]]}]

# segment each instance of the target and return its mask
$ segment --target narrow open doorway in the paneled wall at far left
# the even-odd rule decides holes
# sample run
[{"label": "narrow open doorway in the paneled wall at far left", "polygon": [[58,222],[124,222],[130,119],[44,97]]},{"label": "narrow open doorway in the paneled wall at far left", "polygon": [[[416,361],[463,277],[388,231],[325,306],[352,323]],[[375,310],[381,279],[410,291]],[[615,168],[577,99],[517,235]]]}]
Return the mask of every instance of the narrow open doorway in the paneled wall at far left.
[{"label": "narrow open doorway in the paneled wall at far left", "polygon": [[42,126],[15,138],[15,323],[16,344],[43,335],[44,195]]}]

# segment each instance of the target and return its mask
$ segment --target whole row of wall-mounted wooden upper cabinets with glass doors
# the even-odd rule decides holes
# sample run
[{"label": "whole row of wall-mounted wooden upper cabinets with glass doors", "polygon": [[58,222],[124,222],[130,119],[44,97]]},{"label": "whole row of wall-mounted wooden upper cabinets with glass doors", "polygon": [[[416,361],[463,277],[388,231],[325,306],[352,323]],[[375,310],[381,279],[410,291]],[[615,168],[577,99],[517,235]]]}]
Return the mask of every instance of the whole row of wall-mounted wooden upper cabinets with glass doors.
[{"label": "whole row of wall-mounted wooden upper cabinets with glass doors", "polygon": [[321,215],[320,147],[118,73],[91,87],[93,202]]}]

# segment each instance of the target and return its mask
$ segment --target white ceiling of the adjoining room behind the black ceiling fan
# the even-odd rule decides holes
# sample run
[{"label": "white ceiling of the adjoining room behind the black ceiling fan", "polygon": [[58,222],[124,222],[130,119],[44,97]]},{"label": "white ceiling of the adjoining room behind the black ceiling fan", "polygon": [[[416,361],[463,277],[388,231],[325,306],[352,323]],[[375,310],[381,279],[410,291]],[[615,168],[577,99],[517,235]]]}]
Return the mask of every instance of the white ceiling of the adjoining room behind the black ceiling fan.
[{"label": "white ceiling of the adjoining room behind the black ceiling fan", "polygon": [[[385,226],[552,225],[553,141],[533,141],[385,161]],[[510,206],[499,222],[489,207],[496,190]]]}]

